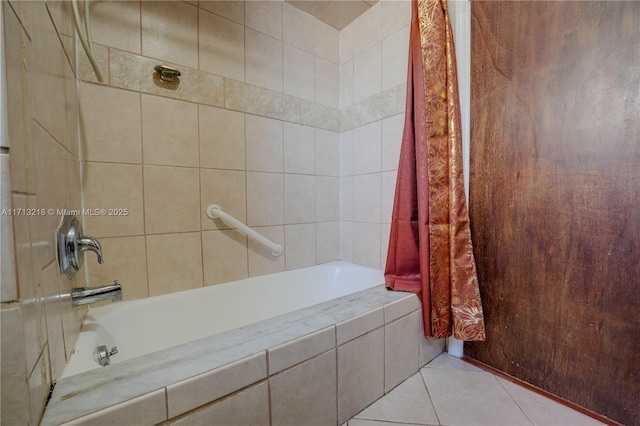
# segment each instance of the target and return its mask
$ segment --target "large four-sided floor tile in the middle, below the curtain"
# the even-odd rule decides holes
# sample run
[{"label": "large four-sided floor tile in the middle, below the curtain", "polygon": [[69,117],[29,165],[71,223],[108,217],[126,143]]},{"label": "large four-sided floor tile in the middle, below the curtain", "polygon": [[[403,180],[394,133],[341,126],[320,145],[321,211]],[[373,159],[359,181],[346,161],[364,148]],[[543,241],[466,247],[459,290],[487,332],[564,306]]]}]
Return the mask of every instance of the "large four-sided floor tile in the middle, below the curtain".
[{"label": "large four-sided floor tile in the middle, below the curtain", "polygon": [[443,425],[532,425],[492,374],[427,367],[420,372]]}]

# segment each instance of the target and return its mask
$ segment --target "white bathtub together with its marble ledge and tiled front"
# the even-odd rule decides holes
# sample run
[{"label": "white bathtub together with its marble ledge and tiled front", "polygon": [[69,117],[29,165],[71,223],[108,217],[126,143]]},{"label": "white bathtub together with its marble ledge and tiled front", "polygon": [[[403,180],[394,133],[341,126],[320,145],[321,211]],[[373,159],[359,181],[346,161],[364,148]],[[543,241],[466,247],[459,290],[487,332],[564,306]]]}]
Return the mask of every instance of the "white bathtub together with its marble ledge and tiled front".
[{"label": "white bathtub together with its marble ledge and tiled front", "polygon": [[382,283],[334,262],[90,309],[40,425],[344,424],[444,349]]}]

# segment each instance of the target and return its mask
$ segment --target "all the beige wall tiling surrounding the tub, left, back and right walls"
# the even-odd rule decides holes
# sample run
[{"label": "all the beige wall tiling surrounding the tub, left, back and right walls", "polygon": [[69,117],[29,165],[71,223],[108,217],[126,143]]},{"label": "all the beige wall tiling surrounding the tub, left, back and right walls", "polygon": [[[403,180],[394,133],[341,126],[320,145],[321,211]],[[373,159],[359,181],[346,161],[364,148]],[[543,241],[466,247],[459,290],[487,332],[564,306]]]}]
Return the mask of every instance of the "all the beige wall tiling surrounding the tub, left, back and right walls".
[{"label": "all the beige wall tiling surrounding the tub, left, back and right walls", "polygon": [[[59,216],[3,218],[16,247],[2,275],[3,422],[38,423],[85,313],[57,297],[72,287],[119,279],[133,299],[337,259],[383,266],[409,2],[378,2],[338,32],[281,1],[95,1],[103,83],[68,3],[2,6],[12,206],[127,209],[83,217],[105,264],[90,254],[74,281],[57,272]],[[161,63],[179,84],[154,81]],[[210,203],[283,256],[206,218]]]}]

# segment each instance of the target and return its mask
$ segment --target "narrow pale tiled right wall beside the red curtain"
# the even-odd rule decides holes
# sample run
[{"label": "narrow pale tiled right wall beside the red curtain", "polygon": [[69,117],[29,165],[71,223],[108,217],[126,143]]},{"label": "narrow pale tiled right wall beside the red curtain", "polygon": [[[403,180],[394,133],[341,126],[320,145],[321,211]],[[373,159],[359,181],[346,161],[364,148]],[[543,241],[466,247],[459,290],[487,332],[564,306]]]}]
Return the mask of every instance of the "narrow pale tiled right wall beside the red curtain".
[{"label": "narrow pale tiled right wall beside the red curtain", "polygon": [[402,131],[410,1],[382,0],[340,32],[342,258],[384,268]]}]

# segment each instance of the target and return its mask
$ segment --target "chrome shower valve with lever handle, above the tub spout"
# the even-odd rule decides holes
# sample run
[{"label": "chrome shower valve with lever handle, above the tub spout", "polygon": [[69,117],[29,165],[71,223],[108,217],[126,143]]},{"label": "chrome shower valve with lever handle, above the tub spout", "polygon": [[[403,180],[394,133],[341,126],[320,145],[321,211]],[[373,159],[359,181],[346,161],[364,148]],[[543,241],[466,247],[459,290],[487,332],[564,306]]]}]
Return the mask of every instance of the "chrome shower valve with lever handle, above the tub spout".
[{"label": "chrome shower valve with lever handle, above the tub spout", "polygon": [[57,232],[58,265],[60,272],[71,279],[78,272],[84,261],[82,252],[92,251],[98,256],[98,263],[103,263],[102,247],[91,237],[82,234],[82,224],[75,216],[65,215]]}]

